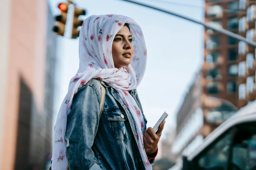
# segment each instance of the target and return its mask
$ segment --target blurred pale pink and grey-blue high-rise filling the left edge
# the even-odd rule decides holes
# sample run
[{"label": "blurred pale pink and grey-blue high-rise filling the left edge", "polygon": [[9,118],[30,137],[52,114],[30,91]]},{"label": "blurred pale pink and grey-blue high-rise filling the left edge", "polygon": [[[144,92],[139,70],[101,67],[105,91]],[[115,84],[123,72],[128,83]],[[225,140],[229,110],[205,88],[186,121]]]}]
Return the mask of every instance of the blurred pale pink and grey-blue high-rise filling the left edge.
[{"label": "blurred pale pink and grey-blue high-rise filling the left edge", "polygon": [[1,6],[0,169],[42,170],[52,143],[53,19],[46,0]]}]

